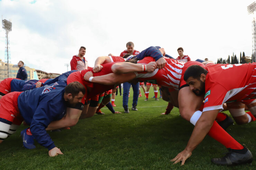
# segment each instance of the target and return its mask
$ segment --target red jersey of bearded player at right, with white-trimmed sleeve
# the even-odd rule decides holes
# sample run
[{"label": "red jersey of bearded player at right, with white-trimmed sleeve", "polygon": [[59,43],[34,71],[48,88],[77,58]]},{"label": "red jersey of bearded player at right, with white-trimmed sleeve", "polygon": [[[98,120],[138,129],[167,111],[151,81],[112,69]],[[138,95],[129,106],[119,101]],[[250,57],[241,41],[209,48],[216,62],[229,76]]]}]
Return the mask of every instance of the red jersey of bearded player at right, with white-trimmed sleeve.
[{"label": "red jersey of bearded player at right, with white-trimmed sleeve", "polygon": [[222,110],[225,102],[254,98],[255,66],[255,63],[207,64],[203,111]]}]

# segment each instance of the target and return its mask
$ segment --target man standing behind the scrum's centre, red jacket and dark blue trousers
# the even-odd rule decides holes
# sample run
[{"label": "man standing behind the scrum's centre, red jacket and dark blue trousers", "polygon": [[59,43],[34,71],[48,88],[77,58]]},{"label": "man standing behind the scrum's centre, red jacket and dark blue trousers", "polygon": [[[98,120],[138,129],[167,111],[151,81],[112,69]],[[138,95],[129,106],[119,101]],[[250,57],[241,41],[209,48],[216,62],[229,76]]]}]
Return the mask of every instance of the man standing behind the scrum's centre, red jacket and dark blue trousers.
[{"label": "man standing behind the scrum's centre, red jacket and dark blue trousers", "polygon": [[[139,54],[139,51],[134,50],[134,44],[129,41],[126,44],[126,50],[124,50],[121,54],[120,57],[124,57],[124,55],[126,54],[132,54],[134,56]],[[129,108],[128,108],[128,100],[129,100],[129,91],[130,91],[130,87],[132,86],[133,89],[133,100],[132,100],[132,108],[131,110],[133,111],[137,111],[138,109],[136,108],[137,103],[138,103],[138,97],[139,97],[139,82],[136,84],[131,84],[131,83],[123,83],[123,88],[124,88],[124,92],[123,92],[123,107],[125,109],[125,113],[129,113]]]}]

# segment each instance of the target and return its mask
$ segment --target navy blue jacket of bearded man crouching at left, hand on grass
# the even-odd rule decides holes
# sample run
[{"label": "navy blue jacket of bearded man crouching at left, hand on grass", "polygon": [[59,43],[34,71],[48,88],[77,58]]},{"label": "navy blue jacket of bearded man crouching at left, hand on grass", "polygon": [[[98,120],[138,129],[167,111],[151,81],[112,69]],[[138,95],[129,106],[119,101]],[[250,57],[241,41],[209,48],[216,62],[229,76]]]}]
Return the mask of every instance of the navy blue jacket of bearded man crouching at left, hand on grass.
[{"label": "navy blue jacket of bearded man crouching at left, hand on grass", "polygon": [[20,114],[30,125],[36,141],[48,150],[53,149],[55,144],[45,129],[52,121],[60,120],[66,114],[65,86],[64,82],[56,82],[23,92],[18,97]]}]

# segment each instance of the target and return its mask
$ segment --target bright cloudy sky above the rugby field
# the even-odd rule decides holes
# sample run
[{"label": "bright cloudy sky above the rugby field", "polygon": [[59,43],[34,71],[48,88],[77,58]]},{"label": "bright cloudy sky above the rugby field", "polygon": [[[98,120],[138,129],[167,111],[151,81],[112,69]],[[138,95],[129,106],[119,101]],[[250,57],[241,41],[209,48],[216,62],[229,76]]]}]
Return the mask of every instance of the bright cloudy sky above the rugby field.
[{"label": "bright cloudy sky above the rugby field", "polygon": [[[0,0],[2,19],[11,19],[11,63],[52,73],[66,72],[86,47],[93,66],[98,56],[119,56],[132,41],[136,50],[161,46],[177,57],[177,48],[192,60],[252,54],[253,0]],[[256,16],[256,15],[254,15]],[[4,60],[5,30],[0,29]],[[70,67],[68,68],[70,69]]]}]

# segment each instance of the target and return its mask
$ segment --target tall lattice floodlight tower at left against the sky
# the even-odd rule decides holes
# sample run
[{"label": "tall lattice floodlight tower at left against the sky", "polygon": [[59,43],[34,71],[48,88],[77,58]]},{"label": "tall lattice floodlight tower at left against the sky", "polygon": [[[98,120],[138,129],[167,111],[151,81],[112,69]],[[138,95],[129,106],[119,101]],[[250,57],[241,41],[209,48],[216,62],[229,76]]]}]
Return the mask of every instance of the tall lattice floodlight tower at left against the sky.
[{"label": "tall lattice floodlight tower at left against the sky", "polygon": [[5,29],[5,52],[4,52],[4,59],[5,59],[5,63],[7,63],[7,65],[5,64],[4,66],[4,72],[7,72],[7,76],[6,73],[4,73],[5,77],[8,78],[9,77],[9,59],[11,59],[10,55],[9,55],[9,39],[8,39],[8,35],[9,32],[11,31],[11,26],[12,23],[10,21],[7,21],[6,19],[2,20],[2,28]]}]

